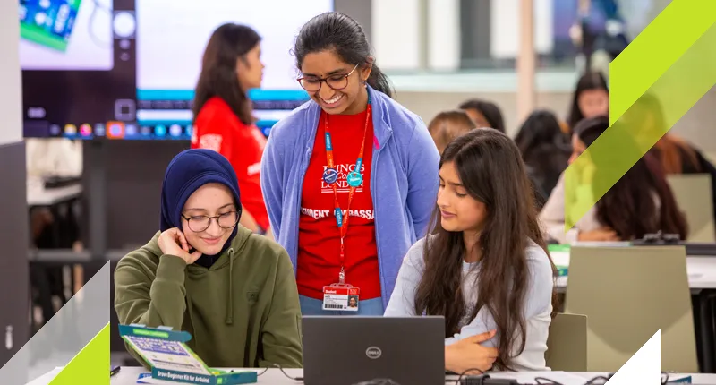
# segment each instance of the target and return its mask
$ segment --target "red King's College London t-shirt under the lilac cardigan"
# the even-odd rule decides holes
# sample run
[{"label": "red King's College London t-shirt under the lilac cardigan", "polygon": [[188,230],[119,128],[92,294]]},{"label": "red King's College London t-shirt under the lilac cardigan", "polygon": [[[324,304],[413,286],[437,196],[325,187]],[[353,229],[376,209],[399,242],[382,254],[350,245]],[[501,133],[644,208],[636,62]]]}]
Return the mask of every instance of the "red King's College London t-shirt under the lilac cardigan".
[{"label": "red King's College London t-shirt under the lilac cardigan", "polygon": [[[298,230],[298,293],[323,299],[323,287],[338,282],[340,263],[340,229],[334,216],[334,193],[323,181],[326,159],[326,114],[321,113],[313,143],[311,161],[303,179],[301,218]],[[334,165],[338,172],[337,197],[341,210],[348,204],[346,177],[354,170],[361,151],[366,112],[356,115],[328,116],[333,142]],[[372,119],[365,134],[362,159],[362,185],[356,187],[351,202],[348,232],[345,235],[345,283],[361,289],[360,299],[380,297],[378,249],[371,198]]]}]

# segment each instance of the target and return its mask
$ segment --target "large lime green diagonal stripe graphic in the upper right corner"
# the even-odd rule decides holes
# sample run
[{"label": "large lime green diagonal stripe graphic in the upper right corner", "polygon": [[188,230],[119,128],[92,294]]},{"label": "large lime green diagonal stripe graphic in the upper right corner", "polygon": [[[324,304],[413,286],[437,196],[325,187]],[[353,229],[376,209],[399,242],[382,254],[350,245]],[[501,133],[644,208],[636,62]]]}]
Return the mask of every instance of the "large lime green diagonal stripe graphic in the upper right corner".
[{"label": "large lime green diagonal stripe graphic in the upper right corner", "polygon": [[715,23],[716,1],[675,0],[611,64],[614,123],[567,167],[566,231],[716,84]]}]

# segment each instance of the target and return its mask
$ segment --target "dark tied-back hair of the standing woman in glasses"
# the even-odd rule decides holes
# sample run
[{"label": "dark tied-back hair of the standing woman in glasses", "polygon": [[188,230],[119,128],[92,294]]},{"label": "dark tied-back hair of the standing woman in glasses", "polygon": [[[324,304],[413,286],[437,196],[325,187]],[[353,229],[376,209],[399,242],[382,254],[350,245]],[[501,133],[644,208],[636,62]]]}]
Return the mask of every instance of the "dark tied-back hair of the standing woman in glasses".
[{"label": "dark tied-back hair of the standing woman in glasses", "polygon": [[392,98],[394,90],[388,77],[371,59],[371,45],[358,21],[344,13],[321,13],[306,22],[298,32],[294,46],[296,67],[301,70],[303,58],[311,53],[333,50],[347,64],[371,66],[368,84]]}]

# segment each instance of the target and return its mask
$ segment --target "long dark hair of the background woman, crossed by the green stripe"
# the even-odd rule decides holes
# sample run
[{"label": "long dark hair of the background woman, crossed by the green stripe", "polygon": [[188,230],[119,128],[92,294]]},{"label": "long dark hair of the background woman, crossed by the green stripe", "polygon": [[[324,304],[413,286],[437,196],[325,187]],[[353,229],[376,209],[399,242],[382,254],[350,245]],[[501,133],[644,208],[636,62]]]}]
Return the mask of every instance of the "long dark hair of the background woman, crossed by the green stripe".
[{"label": "long dark hair of the background woman, crossed by the green stripe", "polygon": [[[575,135],[588,147],[609,128],[609,117],[584,119],[575,126]],[[627,143],[636,149],[635,143]],[[600,175],[609,173],[609,160],[595,158],[593,188],[603,191]],[[654,200],[654,195],[658,201]],[[597,220],[611,227],[624,240],[641,239],[659,231],[686,239],[688,225],[679,211],[659,159],[652,153],[636,161],[624,176],[597,202]]]}]

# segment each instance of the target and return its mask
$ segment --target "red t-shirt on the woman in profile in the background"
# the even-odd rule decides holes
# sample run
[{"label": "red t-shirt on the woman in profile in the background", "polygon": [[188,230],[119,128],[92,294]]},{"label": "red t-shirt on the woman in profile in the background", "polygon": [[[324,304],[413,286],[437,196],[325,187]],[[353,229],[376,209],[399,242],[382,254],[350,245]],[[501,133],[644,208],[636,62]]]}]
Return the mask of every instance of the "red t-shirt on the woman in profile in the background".
[{"label": "red t-shirt on the woman in profile in the background", "polygon": [[268,229],[268,212],[261,193],[261,154],[266,137],[253,124],[239,120],[222,98],[210,98],[196,118],[192,149],[215,150],[226,157],[239,179],[243,210]]}]

